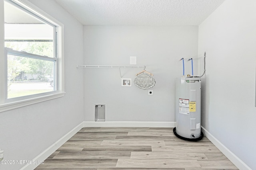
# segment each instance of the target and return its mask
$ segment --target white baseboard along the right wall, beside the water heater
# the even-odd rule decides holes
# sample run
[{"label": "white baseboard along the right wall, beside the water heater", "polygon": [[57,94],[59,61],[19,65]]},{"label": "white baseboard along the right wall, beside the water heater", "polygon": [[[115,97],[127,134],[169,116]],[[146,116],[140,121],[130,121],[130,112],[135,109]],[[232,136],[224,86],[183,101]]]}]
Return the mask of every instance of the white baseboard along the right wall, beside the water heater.
[{"label": "white baseboard along the right wall, beside the water heater", "polygon": [[[202,126],[201,126],[202,127]],[[252,170],[247,166],[240,158],[238,158],[233,152],[225,147],[218,139],[216,139],[210,132],[204,127],[201,128],[204,135],[240,170]]]}]

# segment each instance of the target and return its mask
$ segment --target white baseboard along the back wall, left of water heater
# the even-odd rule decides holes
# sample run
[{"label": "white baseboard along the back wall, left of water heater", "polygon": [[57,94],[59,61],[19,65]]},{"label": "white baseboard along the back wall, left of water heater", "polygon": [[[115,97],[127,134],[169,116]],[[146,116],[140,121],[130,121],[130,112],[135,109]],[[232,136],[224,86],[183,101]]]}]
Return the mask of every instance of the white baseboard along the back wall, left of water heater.
[{"label": "white baseboard along the back wall, left of water heater", "polygon": [[167,121],[84,121],[84,127],[175,127]]}]

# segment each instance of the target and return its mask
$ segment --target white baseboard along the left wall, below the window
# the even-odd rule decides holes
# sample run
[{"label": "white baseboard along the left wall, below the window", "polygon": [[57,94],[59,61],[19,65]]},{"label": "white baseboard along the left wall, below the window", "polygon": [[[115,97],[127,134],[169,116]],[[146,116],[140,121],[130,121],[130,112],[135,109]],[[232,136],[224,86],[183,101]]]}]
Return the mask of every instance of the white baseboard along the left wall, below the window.
[{"label": "white baseboard along the left wall, below the window", "polygon": [[82,129],[83,125],[84,122],[80,123],[74,129],[72,129],[70,132],[68,132],[66,135],[64,135],[62,138],[60,138],[58,141],[56,141],[54,144],[44,150],[41,154],[36,156],[36,158],[33,159],[35,161],[35,164],[26,164],[26,166],[23,166],[20,170],[34,170],[39,165],[38,162],[43,162],[46,158],[48,158],[53,152],[61,147],[61,145],[68,141],[68,139],[70,139],[80,129]]}]

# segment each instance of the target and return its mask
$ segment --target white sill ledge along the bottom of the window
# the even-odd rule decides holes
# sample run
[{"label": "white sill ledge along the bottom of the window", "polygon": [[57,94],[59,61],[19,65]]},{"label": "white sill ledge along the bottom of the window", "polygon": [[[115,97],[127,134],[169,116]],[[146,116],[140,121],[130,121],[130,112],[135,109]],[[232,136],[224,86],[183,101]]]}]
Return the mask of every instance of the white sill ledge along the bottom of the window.
[{"label": "white sill ledge along the bottom of the window", "polygon": [[19,107],[28,106],[28,105],[31,105],[31,104],[44,102],[44,101],[47,101],[47,100],[60,98],[60,97],[63,97],[64,95],[65,95],[65,92],[60,92],[60,93],[50,94],[50,95],[42,96],[42,97],[38,97],[38,98],[32,98],[32,99],[22,100],[22,101],[18,101],[18,102],[12,102],[12,103],[8,103],[8,104],[1,104],[0,105],[0,112],[8,111],[8,110],[11,110],[11,109],[16,109],[16,108],[19,108]]}]

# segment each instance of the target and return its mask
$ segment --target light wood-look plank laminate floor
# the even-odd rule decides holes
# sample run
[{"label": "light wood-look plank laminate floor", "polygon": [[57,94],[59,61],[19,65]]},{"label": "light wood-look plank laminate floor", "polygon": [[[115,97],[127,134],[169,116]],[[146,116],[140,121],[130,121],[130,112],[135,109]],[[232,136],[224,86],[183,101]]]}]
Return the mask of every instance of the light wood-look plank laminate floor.
[{"label": "light wood-look plank laminate floor", "polygon": [[189,142],[172,128],[82,128],[36,170],[238,170],[206,137]]}]

